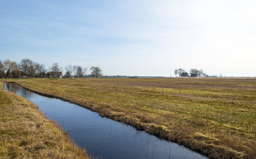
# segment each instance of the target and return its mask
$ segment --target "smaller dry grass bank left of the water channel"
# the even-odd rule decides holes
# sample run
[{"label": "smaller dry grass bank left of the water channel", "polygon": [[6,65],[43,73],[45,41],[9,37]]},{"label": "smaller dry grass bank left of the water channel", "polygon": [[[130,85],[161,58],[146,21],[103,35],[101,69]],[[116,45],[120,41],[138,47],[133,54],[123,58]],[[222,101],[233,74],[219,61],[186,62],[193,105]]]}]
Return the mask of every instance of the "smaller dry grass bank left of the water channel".
[{"label": "smaller dry grass bank left of the water channel", "polygon": [[88,158],[68,134],[0,81],[0,158]]}]

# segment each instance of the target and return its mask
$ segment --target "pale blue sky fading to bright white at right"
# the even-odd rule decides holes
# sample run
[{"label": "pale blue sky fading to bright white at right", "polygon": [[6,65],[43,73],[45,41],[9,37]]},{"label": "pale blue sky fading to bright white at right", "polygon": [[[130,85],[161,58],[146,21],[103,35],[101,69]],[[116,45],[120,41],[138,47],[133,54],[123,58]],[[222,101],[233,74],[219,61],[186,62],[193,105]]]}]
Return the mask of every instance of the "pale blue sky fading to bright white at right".
[{"label": "pale blue sky fading to bright white at right", "polygon": [[[104,75],[256,76],[254,0],[0,1],[0,60]],[[89,71],[87,72],[89,74]]]}]

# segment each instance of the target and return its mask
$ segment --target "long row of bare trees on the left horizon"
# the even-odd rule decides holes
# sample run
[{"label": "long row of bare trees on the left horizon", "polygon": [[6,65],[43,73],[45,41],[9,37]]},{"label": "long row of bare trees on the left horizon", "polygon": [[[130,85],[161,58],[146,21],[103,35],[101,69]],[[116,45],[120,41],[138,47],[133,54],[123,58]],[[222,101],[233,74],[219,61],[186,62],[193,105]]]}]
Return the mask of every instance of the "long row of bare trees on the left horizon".
[{"label": "long row of bare trees on the left horizon", "polygon": [[[68,65],[65,67],[65,70],[66,74],[64,74],[64,78],[82,78],[84,76],[100,78],[103,76],[102,70],[96,66],[90,68],[90,75],[86,75],[87,68],[82,66]],[[12,60],[4,60],[3,62],[0,60],[0,78],[14,78],[14,76],[46,78],[47,72],[63,72],[63,68],[61,68],[58,63],[54,63],[49,67],[49,70],[47,70],[44,64],[33,62],[29,58],[21,60],[20,63]]]}]

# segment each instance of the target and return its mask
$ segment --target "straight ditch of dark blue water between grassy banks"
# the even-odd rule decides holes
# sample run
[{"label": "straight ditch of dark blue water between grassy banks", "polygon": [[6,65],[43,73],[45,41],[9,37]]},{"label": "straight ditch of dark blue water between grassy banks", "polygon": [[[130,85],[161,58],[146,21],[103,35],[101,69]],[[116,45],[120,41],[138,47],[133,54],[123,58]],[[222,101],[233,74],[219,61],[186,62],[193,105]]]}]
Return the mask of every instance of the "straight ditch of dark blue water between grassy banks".
[{"label": "straight ditch of dark blue water between grassy banks", "polygon": [[15,83],[5,89],[21,95],[39,106],[45,115],[57,121],[74,141],[89,154],[102,158],[206,158],[184,146],[160,140],[133,127],[100,117],[78,105],[43,97]]}]

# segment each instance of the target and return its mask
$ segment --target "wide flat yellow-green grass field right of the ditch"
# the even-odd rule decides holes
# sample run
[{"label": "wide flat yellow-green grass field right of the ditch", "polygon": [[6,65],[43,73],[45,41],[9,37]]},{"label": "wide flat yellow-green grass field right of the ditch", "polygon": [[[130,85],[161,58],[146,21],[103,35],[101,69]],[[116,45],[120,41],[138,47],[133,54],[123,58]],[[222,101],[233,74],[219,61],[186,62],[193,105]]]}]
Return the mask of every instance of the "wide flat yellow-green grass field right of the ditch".
[{"label": "wide flat yellow-green grass field right of the ditch", "polygon": [[210,158],[255,158],[256,79],[11,79]]}]

